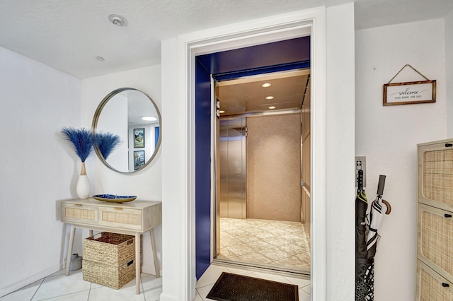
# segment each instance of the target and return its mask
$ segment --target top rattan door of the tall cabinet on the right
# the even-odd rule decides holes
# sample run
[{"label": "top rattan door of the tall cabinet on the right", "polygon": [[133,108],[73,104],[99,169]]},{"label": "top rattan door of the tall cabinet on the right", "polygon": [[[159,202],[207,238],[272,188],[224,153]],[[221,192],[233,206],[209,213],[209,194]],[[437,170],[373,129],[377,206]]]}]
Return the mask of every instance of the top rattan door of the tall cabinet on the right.
[{"label": "top rattan door of the tall cabinet on the right", "polygon": [[418,145],[418,201],[453,211],[453,140]]}]

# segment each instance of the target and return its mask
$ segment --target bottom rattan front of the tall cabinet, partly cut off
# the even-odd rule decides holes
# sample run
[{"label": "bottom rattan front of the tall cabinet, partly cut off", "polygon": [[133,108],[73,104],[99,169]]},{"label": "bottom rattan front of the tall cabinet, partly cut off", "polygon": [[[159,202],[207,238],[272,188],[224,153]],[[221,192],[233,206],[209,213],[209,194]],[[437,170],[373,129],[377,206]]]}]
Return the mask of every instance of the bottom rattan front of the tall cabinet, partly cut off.
[{"label": "bottom rattan front of the tall cabinet, partly cut off", "polygon": [[417,301],[452,301],[453,283],[442,278],[422,261],[417,262],[417,287],[415,300]]}]

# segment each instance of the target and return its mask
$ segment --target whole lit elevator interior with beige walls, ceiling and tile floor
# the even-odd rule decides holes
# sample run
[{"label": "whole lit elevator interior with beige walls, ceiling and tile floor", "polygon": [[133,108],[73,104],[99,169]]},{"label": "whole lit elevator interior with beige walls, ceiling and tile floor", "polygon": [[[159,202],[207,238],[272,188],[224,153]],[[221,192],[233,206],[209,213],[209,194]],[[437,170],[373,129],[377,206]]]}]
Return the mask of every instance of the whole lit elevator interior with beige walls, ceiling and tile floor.
[{"label": "whole lit elevator interior with beige walls, ceiling and tile floor", "polygon": [[216,82],[214,259],[309,273],[309,78],[304,69]]}]

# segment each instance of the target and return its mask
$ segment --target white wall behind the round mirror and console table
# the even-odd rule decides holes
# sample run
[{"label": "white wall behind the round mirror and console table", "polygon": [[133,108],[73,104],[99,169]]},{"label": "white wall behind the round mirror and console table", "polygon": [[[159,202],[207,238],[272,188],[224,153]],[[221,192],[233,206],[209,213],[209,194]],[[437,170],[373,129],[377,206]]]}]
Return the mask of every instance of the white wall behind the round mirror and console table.
[{"label": "white wall behind the round mirror and console table", "polygon": [[[149,66],[82,80],[81,124],[91,127],[94,112],[101,100],[113,90],[125,87],[141,90],[156,102],[160,110],[161,66]],[[163,139],[166,138],[164,131],[161,131],[163,133]],[[97,160],[96,156],[90,163],[86,164],[86,172],[91,181],[91,195],[136,195],[137,199],[161,201],[161,150],[158,151],[154,160],[144,170],[139,170],[132,174],[114,172],[108,169],[108,167],[105,167],[100,160]],[[159,262],[161,262],[161,229],[161,226],[154,228]],[[80,240],[74,242],[74,249],[81,249]],[[145,234],[143,237],[143,254],[152,254],[148,234]],[[162,268],[161,264],[159,266]],[[142,270],[145,273],[154,274],[154,263],[151,256],[143,256]]]}]

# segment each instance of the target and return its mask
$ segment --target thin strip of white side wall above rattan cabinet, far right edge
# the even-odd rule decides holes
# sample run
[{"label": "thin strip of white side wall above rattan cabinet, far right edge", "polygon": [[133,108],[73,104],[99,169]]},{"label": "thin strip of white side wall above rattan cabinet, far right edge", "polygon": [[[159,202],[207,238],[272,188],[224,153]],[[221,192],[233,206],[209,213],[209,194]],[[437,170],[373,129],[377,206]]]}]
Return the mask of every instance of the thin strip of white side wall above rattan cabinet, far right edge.
[{"label": "thin strip of white side wall above rattan cabinet, far right edge", "polygon": [[445,68],[447,86],[447,136],[453,137],[453,11],[445,17]]}]

